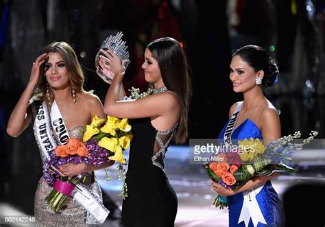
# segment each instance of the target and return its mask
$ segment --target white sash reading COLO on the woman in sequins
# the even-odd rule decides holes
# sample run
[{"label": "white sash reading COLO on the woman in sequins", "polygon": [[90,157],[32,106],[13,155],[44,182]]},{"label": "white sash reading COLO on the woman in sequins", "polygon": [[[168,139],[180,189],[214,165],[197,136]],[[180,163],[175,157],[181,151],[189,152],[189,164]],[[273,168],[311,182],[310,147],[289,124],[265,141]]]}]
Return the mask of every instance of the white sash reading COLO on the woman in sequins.
[{"label": "white sash reading COLO on the woman in sequins", "polygon": [[[57,145],[66,143],[69,133],[56,101],[52,104],[51,114],[49,114],[45,101],[40,103],[31,99],[29,104],[31,104],[34,115],[33,130],[36,143],[44,163],[45,160],[49,160]],[[101,202],[101,191],[98,184],[94,183],[91,190],[80,184],[78,187],[82,191],[74,189],[73,200],[87,211],[86,224],[103,224],[110,211]]]}]

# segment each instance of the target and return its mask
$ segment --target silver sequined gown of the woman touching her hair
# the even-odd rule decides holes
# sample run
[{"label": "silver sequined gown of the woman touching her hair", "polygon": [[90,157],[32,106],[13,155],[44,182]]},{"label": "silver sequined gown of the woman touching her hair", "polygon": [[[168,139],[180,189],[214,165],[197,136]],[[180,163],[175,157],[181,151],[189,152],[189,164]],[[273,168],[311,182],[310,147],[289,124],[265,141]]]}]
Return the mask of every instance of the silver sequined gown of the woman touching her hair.
[{"label": "silver sequined gown of the woman touching her hair", "polygon": [[[84,126],[72,128],[68,130],[69,136],[71,138],[82,139],[85,130],[86,128]],[[97,182],[93,184],[97,184]],[[87,189],[91,189],[93,184],[83,186]],[[64,208],[59,213],[54,213],[45,201],[45,198],[52,189],[53,188],[49,187],[43,178],[40,178],[35,193],[34,215],[36,226],[97,226],[94,224],[85,224],[86,212],[84,208],[77,204],[77,202],[74,202],[72,198],[68,198],[67,208]]]}]

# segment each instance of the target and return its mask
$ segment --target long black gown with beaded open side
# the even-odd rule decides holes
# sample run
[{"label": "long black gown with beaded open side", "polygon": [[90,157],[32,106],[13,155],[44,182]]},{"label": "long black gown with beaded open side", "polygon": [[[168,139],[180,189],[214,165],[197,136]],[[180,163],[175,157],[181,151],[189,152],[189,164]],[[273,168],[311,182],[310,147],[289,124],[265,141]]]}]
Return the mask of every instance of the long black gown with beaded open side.
[{"label": "long black gown with beaded open side", "polygon": [[160,132],[150,118],[130,120],[132,140],[123,200],[122,224],[126,227],[174,226],[177,197],[165,174],[165,152],[175,129]]}]

